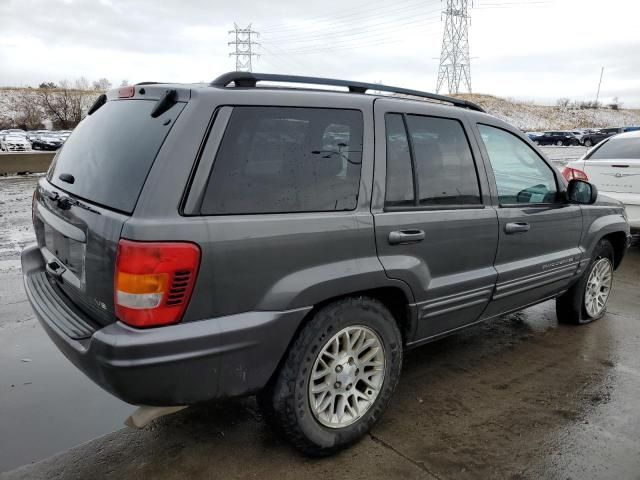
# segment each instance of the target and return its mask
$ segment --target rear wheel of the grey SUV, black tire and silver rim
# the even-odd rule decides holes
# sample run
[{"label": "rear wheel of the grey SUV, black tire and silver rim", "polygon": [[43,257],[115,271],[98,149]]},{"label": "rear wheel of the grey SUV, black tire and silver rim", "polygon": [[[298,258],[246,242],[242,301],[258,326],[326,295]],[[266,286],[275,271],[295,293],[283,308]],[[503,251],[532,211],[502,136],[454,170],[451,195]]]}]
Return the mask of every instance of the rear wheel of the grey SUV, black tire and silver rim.
[{"label": "rear wheel of the grey SUV, black tire and silver rim", "polygon": [[[347,343],[353,350],[346,349]],[[339,360],[331,360],[329,353]],[[375,367],[366,362],[371,355]],[[296,448],[311,456],[330,455],[357,442],[376,423],[401,367],[402,336],[393,315],[377,300],[348,297],[318,310],[302,328],[275,378],[258,395],[258,405]],[[312,380],[314,373],[321,376]],[[324,410],[312,407],[314,401],[322,407],[327,400]]]}]

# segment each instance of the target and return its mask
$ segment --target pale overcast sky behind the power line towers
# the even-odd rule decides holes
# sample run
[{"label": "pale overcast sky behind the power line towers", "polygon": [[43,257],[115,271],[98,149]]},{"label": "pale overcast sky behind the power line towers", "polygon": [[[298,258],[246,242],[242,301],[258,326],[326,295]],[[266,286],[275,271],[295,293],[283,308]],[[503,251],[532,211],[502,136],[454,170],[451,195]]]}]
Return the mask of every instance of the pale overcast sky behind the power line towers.
[{"label": "pale overcast sky behind the power line towers", "polygon": [[[440,0],[0,0],[0,85],[209,81],[235,68],[227,42],[237,22],[261,33],[254,71],[434,91],[442,9]],[[594,99],[604,66],[601,99],[640,108],[637,0],[476,0],[469,12],[474,92]]]}]

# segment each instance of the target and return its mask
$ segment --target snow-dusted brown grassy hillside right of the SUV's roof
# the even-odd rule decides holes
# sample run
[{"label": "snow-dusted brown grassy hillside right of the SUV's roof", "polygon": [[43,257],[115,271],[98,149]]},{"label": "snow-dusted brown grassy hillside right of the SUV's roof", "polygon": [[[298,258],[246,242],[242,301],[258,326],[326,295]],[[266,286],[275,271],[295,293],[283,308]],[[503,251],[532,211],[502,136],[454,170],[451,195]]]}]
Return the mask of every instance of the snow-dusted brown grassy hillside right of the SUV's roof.
[{"label": "snow-dusted brown grassy hillside right of the SUV's roof", "polygon": [[458,97],[477,103],[491,115],[527,131],[640,125],[640,110],[581,110],[480,94],[461,94]]}]

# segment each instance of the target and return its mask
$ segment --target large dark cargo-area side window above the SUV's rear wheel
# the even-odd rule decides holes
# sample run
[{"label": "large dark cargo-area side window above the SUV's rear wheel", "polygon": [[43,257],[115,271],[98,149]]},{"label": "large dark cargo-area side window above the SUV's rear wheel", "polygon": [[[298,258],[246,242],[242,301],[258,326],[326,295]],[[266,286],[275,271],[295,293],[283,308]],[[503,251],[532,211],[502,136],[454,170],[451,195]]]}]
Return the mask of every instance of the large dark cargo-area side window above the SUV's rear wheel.
[{"label": "large dark cargo-area side window above the SUV's rear wheel", "polygon": [[234,107],[201,212],[355,209],[362,128],[356,110]]}]

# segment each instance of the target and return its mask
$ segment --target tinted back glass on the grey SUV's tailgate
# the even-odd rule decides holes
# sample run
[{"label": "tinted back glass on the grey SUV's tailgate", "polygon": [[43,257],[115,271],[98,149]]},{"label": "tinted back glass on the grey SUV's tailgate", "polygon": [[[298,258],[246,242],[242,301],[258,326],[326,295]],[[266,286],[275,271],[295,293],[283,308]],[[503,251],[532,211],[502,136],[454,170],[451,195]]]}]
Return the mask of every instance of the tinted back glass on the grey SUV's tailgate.
[{"label": "tinted back glass on the grey SUV's tailgate", "polygon": [[[73,131],[48,179],[91,202],[131,213],[158,150],[184,108],[177,103],[157,118],[154,100],[109,101]],[[74,183],[59,179],[71,174]]]}]

